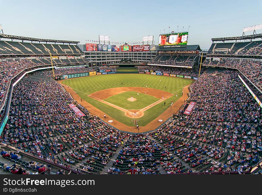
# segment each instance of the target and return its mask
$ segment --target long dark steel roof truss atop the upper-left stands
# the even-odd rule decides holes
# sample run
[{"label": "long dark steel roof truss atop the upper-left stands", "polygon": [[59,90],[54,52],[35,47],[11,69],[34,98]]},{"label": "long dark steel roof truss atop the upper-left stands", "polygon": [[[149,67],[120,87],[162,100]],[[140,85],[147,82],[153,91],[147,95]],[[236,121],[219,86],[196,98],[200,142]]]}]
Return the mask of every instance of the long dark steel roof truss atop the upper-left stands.
[{"label": "long dark steel roof truss atop the upper-left stands", "polygon": [[21,37],[21,36],[15,36],[15,35],[9,35],[9,34],[0,34],[0,39],[20,39],[20,40],[27,40],[27,41],[39,41],[39,42],[55,42],[55,43],[74,43],[78,44],[79,41],[65,41],[65,40],[55,40],[55,39],[38,39],[38,38],[32,38],[32,37]]}]

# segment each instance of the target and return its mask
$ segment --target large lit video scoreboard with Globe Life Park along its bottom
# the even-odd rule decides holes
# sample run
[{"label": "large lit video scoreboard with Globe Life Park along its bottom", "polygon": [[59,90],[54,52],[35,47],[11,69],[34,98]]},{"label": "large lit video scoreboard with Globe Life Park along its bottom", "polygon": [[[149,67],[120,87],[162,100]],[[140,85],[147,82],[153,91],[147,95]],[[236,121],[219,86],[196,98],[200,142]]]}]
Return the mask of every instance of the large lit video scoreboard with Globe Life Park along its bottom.
[{"label": "large lit video scoreboard with Globe Life Park along its bottom", "polygon": [[159,47],[186,47],[188,32],[159,35]]}]

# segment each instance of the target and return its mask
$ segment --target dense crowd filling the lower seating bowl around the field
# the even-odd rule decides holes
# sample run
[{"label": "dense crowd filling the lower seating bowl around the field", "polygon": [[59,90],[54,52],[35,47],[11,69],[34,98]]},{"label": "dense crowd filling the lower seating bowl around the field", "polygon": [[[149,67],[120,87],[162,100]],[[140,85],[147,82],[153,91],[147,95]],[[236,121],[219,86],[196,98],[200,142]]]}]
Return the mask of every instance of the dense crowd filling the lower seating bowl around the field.
[{"label": "dense crowd filling the lower seating bowl around the field", "polygon": [[[249,72],[261,68],[261,62],[223,62],[243,71],[252,82],[261,81],[261,72]],[[149,66],[141,71],[145,68],[198,75],[177,67]],[[49,77],[41,82],[22,79],[13,89],[9,120],[0,138],[40,158],[87,172],[101,172],[118,148],[109,173],[130,173],[135,168],[141,174],[157,174],[159,167],[168,174],[196,168],[246,170],[261,160],[261,107],[239,80],[238,71],[214,73],[203,73],[191,85],[190,100],[196,102],[191,115],[183,115],[184,106],[168,123],[146,135],[120,133],[96,116],[80,118],[68,107],[73,99]],[[88,113],[81,104],[77,106]],[[19,159],[17,154],[12,156]]]}]

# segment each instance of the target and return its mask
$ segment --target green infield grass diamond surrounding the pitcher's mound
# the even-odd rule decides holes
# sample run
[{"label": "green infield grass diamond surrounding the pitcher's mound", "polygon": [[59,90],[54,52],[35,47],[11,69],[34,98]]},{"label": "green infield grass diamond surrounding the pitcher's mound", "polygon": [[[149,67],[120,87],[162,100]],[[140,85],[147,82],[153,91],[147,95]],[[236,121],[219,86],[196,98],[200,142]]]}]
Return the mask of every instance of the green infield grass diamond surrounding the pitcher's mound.
[{"label": "green infield grass diamond surrounding the pitcher's mound", "polygon": [[[143,93],[138,94],[139,95],[137,95],[137,92],[135,91],[126,91],[124,93],[120,93],[104,99],[104,101],[124,108],[126,110],[141,110],[142,108],[149,106],[150,104],[153,104],[154,102],[157,102],[157,100],[159,100],[154,96]],[[131,96],[133,96],[133,98],[136,98],[137,100],[134,102],[128,101],[127,99],[131,98]]]}]

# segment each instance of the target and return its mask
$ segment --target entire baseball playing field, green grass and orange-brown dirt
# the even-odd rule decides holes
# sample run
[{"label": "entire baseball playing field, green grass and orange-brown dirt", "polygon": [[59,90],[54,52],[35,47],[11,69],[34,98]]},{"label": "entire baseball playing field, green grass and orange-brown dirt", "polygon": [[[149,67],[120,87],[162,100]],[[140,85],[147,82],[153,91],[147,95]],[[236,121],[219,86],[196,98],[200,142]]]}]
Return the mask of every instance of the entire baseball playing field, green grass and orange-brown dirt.
[{"label": "entire baseball playing field, green grass and orange-brown dirt", "polygon": [[161,114],[183,104],[179,102],[177,105],[177,100],[182,98],[183,87],[188,91],[194,80],[149,74],[107,74],[62,80],[60,83],[69,85],[66,90],[82,105],[86,103],[84,106],[92,114],[106,122],[112,119],[134,128],[136,124],[143,127],[158,119],[165,121],[166,118],[159,118]]}]

